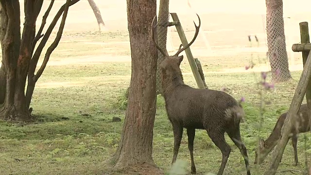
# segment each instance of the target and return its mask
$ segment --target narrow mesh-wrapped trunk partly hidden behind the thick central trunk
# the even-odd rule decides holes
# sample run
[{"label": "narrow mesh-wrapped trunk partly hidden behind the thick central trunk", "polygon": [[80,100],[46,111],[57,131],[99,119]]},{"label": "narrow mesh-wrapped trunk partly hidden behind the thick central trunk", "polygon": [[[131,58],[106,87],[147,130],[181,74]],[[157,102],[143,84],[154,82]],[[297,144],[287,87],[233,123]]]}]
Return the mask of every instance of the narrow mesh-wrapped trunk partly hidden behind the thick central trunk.
[{"label": "narrow mesh-wrapped trunk partly hidden behind the thick central trunk", "polygon": [[[167,45],[167,33],[168,33],[168,23],[169,23],[169,4],[161,4],[159,8],[159,15],[157,20],[157,43],[160,48],[166,50]],[[157,66],[159,67],[159,63],[164,59],[164,56],[161,52],[158,52],[158,61]],[[156,71],[156,93],[161,93],[161,72],[159,69]]]}]

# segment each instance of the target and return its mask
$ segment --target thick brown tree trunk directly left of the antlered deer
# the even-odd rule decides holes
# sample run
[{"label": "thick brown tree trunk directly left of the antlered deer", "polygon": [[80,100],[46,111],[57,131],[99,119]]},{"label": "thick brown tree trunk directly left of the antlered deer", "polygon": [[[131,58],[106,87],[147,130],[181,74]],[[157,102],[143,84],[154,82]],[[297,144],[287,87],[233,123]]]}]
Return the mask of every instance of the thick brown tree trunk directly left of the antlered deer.
[{"label": "thick brown tree trunk directly left of the antlered deer", "polygon": [[156,0],[127,0],[132,74],[121,140],[112,158],[115,167],[134,166],[141,163],[155,167],[152,143],[156,104],[157,50],[151,37],[151,24],[155,15]]}]

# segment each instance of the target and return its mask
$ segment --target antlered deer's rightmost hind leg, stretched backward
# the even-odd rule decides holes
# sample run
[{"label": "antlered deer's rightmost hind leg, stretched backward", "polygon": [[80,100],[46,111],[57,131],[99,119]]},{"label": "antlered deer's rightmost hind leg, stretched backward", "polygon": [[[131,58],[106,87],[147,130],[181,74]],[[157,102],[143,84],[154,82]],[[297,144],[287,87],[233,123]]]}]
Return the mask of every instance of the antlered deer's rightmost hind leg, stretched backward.
[{"label": "antlered deer's rightmost hind leg, stretched backward", "polygon": [[229,131],[227,131],[227,134],[230,137],[230,139],[234,142],[234,144],[239,148],[239,150],[240,150],[240,152],[244,158],[247,175],[251,175],[250,170],[249,170],[249,161],[248,161],[248,156],[247,156],[247,149],[241,140],[240,126],[237,126],[233,129],[230,129]]}]

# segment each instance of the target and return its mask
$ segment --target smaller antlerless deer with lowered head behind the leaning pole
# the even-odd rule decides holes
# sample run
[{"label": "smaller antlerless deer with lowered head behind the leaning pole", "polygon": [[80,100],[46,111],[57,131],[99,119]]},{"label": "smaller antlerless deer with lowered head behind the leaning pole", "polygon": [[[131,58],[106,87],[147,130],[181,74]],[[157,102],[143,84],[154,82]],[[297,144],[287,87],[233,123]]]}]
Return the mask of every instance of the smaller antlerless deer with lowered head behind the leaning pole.
[{"label": "smaller antlerless deer with lowered head behind the leaning pole", "polygon": [[[263,160],[267,157],[267,155],[271,152],[271,150],[276,146],[277,140],[281,136],[281,129],[284,124],[284,121],[287,116],[287,112],[283,113],[276,122],[276,125],[268,137],[267,140],[260,139],[259,140],[259,147],[258,150],[255,152],[255,161],[262,163]],[[303,104],[300,106],[298,111],[298,116],[296,117],[296,123],[292,128],[291,135],[288,137],[288,140],[292,138],[292,144],[294,148],[294,165],[298,164],[298,156],[297,156],[297,139],[299,133],[305,133],[310,131],[310,124],[309,124],[309,116],[308,116],[308,107],[307,104]]]}]

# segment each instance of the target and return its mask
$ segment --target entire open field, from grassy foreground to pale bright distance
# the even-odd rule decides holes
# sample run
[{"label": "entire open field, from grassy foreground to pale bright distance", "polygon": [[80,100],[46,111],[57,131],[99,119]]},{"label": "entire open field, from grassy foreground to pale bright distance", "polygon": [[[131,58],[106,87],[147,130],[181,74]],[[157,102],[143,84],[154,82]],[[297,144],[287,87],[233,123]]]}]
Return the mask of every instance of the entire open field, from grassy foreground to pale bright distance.
[{"label": "entire open field, from grassy foreground to pale bright distance", "polygon": [[[49,2],[46,0],[44,3],[37,26],[40,25]],[[37,122],[28,125],[0,123],[0,174],[116,174],[111,173],[103,162],[114,154],[118,146],[121,123],[111,123],[110,120],[113,116],[124,120],[126,101],[123,94],[130,83],[131,57],[126,1],[95,2],[101,10],[108,31],[97,32],[97,21],[87,0],[81,0],[69,8],[61,42],[52,53],[48,67],[36,85],[32,107],[34,115],[38,118]],[[236,99],[242,96],[246,98],[243,106],[247,123],[241,124],[242,138],[249,152],[253,174],[263,175],[264,163],[259,166],[258,172],[253,164],[257,139],[258,136],[266,139],[277,117],[288,109],[302,70],[301,53],[294,53],[294,62],[290,62],[294,80],[277,84],[272,92],[265,95],[266,101],[271,104],[266,106],[263,131],[258,132],[257,92],[260,87],[257,87],[256,83],[259,81],[259,71],[269,70],[266,59],[264,0],[190,2],[201,17],[200,33],[205,35],[211,46],[209,51],[204,37],[199,35],[191,46],[191,51],[203,65],[209,88],[227,87]],[[55,1],[47,24],[63,3],[64,0]],[[301,4],[304,5],[300,7]],[[285,22],[289,48],[300,41],[299,22],[311,21],[311,12],[308,12],[310,5],[308,0],[296,0],[295,3],[284,0],[284,17],[291,18]],[[23,7],[23,4],[21,6]],[[23,11],[23,8],[21,10]],[[170,12],[178,14],[188,39],[192,38],[192,20],[197,19],[187,6],[187,0],[170,0]],[[23,18],[22,16],[21,19]],[[56,30],[47,46],[51,44],[55,32]],[[173,52],[178,48],[180,40],[173,27],[170,32]],[[250,47],[247,35],[257,35],[259,46],[253,42]],[[287,52],[289,55],[292,53],[290,49]],[[254,69],[246,71],[244,67],[251,61],[256,65]],[[187,61],[183,62],[182,70],[185,83],[196,87]],[[252,71],[253,73],[250,73]],[[299,137],[299,166],[292,166],[294,153],[289,143],[280,170],[304,170],[304,150],[310,151],[309,146],[305,147],[305,143],[311,143],[309,135],[301,134]],[[231,140],[228,140],[228,143],[233,151],[225,174],[244,174],[242,156]],[[187,134],[184,133],[178,159],[188,163],[186,171],[189,173],[190,157],[187,144]],[[220,166],[221,153],[206,132],[196,132],[194,145],[198,174],[203,175],[209,171],[216,173]],[[165,172],[170,169],[172,154],[173,132],[164,110],[163,98],[159,96],[154,131],[154,159]]]}]

